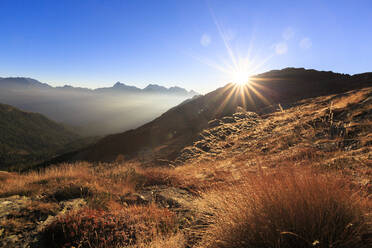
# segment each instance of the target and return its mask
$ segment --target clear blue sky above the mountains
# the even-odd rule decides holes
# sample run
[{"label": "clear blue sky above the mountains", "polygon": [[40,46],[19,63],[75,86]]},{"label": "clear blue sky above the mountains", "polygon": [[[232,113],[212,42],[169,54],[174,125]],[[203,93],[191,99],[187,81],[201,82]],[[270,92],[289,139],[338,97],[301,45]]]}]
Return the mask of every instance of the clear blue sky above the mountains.
[{"label": "clear blue sky above the mountains", "polygon": [[1,0],[0,13],[0,77],[51,85],[206,93],[232,80],[232,58],[255,73],[372,71],[370,0]]}]

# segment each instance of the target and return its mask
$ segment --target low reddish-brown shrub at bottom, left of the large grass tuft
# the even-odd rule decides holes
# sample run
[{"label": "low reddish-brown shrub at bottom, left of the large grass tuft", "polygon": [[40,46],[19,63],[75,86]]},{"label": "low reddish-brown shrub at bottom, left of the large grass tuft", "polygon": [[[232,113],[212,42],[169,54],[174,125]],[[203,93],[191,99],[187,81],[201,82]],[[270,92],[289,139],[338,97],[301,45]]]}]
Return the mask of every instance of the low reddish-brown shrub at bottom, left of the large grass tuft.
[{"label": "low reddish-brown shrub at bottom, left of the large grass tuft", "polygon": [[106,212],[84,209],[60,217],[44,231],[48,247],[115,247],[150,241],[175,230],[175,216],[155,206]]}]

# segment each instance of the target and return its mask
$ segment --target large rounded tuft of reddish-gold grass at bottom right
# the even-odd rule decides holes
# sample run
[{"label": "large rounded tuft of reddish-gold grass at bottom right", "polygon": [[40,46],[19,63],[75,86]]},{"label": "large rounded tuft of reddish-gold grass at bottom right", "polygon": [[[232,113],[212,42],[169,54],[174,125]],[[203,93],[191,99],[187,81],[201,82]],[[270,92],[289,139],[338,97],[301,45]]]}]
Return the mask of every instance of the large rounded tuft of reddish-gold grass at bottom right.
[{"label": "large rounded tuft of reddish-gold grass at bottom right", "polygon": [[210,191],[201,204],[211,225],[200,247],[368,247],[371,201],[335,174],[282,168]]}]

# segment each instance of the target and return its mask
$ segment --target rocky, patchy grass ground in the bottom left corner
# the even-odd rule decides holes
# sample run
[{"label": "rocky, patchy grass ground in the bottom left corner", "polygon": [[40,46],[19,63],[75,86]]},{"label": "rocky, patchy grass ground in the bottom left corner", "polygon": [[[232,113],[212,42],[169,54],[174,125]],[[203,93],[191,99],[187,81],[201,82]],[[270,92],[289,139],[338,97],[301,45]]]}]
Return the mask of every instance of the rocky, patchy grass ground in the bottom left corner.
[{"label": "rocky, patchy grass ground in the bottom left corner", "polygon": [[46,203],[42,197],[0,198],[0,247],[46,247],[41,232],[59,216],[86,205],[78,198]]}]

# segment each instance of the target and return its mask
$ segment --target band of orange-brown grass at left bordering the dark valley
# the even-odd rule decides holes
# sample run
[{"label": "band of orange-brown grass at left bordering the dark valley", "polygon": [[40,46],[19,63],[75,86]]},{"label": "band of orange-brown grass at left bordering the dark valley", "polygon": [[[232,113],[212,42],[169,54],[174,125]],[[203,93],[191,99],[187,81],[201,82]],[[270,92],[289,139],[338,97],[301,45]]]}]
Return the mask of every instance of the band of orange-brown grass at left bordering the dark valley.
[{"label": "band of orange-brown grass at left bordering the dark valley", "polygon": [[[174,168],[141,167],[138,163],[75,163],[25,174],[13,173],[0,181],[0,197],[42,196],[60,202],[85,198],[94,209],[120,209],[123,197],[148,186],[199,187],[199,181]],[[194,191],[195,192],[195,191]]]}]

